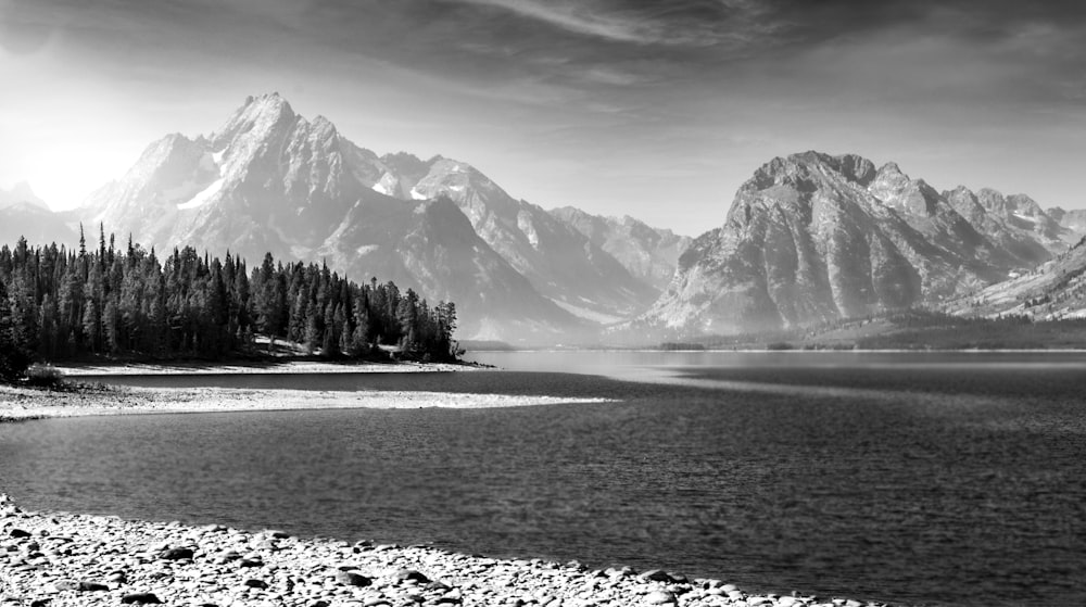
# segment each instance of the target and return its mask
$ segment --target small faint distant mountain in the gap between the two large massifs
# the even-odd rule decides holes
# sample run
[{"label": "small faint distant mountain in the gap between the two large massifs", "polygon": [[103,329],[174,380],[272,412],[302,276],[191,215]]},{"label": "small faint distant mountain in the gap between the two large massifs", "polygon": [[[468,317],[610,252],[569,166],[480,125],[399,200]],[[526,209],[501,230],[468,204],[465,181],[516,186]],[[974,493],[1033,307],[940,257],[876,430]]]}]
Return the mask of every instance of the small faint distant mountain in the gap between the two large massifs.
[{"label": "small faint distant mountain in the gap between the two large massifs", "polygon": [[577,228],[590,242],[610,253],[634,278],[657,291],[667,288],[679,255],[693,241],[671,230],[649,227],[629,215],[603,217],[572,206],[552,208],[551,214]]}]

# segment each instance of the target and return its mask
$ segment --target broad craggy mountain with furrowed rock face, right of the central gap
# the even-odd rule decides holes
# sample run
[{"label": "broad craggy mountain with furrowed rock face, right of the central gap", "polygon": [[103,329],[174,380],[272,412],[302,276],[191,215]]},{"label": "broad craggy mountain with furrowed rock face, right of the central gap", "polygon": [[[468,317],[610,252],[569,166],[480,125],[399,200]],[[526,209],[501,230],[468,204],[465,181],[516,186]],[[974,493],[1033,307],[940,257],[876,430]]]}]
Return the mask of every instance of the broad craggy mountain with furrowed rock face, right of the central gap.
[{"label": "broad craggy mountain with furrowed rock face, right of the central gap", "polygon": [[774,159],[698,237],[635,326],[776,330],[964,295],[1051,257],[1059,224],[1026,197],[940,194],[894,163]]}]

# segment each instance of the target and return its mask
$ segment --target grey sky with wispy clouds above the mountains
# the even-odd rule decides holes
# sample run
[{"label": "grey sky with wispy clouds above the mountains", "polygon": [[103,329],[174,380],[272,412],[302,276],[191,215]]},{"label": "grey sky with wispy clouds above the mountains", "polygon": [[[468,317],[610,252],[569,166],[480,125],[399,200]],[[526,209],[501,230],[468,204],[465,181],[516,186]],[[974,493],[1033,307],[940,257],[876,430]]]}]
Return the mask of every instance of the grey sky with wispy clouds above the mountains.
[{"label": "grey sky with wispy clouds above the mountains", "polygon": [[1086,207],[1086,2],[1043,0],[0,0],[0,188],[77,205],[273,91],[691,236],[807,150]]}]

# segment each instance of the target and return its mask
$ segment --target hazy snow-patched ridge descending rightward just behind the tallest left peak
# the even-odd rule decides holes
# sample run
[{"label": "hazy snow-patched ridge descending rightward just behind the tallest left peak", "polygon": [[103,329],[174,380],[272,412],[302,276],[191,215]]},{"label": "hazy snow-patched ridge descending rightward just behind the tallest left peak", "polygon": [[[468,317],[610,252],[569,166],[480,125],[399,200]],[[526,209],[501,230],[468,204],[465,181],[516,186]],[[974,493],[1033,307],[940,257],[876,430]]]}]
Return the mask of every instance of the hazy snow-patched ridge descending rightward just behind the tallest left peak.
[{"label": "hazy snow-patched ridge descending rightward just behind the tallest left peak", "polygon": [[642,312],[658,290],[569,223],[510,197],[473,166],[442,156],[386,155],[374,189],[403,200],[446,197],[476,232],[532,287],[569,313],[614,323]]}]

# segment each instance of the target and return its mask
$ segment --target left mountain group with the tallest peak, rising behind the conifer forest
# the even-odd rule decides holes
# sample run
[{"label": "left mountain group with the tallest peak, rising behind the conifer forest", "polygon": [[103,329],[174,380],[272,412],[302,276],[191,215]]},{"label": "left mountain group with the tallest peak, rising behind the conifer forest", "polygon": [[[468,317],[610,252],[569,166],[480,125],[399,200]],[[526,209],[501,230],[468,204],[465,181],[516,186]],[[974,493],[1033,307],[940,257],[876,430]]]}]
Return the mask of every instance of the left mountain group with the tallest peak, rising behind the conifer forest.
[{"label": "left mountain group with the tallest peak, rising behind the conifer forest", "polygon": [[661,282],[647,277],[680,252],[668,230],[584,217],[596,231],[635,229],[639,239],[613,255],[607,236],[514,199],[467,163],[378,156],[267,94],[247,99],[210,136],[150,144],[65,219],[160,250],[323,258],[358,280],[456,302],[460,338],[554,343],[592,341],[602,324],[644,311]]}]

